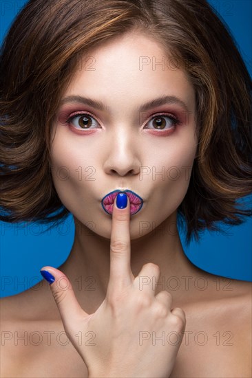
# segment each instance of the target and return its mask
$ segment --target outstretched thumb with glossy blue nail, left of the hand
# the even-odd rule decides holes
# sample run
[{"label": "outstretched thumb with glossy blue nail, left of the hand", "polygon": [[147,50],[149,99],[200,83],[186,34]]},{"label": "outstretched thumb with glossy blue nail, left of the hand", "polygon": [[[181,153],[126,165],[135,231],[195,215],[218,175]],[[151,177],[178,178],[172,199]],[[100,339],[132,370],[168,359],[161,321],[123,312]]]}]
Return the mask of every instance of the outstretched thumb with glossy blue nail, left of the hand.
[{"label": "outstretched thumb with glossy blue nail, left of the hand", "polygon": [[78,324],[79,320],[83,321],[85,316],[90,316],[81,308],[70,280],[62,271],[46,266],[41,268],[40,272],[43,278],[50,284],[50,289],[59,309],[61,319],[67,329],[71,329],[71,326],[75,322]]}]

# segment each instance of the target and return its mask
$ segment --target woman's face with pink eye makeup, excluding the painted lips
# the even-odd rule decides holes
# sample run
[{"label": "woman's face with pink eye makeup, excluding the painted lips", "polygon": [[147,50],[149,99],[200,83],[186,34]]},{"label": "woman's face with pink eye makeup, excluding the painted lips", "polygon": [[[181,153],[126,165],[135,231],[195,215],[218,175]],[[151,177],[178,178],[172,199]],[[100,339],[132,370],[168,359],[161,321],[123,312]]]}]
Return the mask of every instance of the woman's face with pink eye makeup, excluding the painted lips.
[{"label": "woman's face with pink eye makeup, excluding the painted lips", "polygon": [[[163,104],[143,107],[165,96]],[[104,108],[85,98],[103,102]],[[52,179],[78,221],[110,238],[112,215],[101,200],[117,189],[143,199],[131,215],[132,240],[176,212],[196,155],[195,92],[158,43],[132,33],[94,49],[61,100]]]}]

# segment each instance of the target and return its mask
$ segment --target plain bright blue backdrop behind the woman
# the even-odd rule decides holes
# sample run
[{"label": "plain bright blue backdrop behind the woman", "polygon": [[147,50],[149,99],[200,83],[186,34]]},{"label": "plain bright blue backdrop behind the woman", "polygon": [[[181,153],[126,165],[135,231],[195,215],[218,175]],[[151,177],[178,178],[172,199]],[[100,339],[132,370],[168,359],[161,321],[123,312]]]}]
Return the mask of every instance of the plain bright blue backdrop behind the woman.
[{"label": "plain bright blue backdrop behind the woman", "polygon": [[[91,0],[90,0],[91,1]],[[0,41],[6,34],[14,16],[26,1],[1,1]],[[252,1],[209,1],[229,25],[246,66],[252,75]],[[246,197],[251,203],[252,196]],[[41,280],[39,270],[44,265],[59,267],[70,254],[74,240],[74,222],[70,215],[65,223],[47,230],[46,225],[0,222],[0,296],[12,296],[29,289]],[[187,257],[201,269],[212,274],[238,280],[252,281],[252,219],[240,226],[220,224],[218,232],[204,232],[200,243],[185,247]],[[41,234],[43,232],[43,234]]]}]

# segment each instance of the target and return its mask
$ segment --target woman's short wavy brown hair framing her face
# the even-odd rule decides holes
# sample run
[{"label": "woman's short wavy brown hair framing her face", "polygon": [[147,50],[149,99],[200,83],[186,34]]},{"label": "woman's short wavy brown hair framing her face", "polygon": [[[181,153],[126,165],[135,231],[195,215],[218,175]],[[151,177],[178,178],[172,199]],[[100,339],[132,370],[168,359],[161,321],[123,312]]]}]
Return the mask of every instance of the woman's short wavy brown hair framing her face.
[{"label": "woman's short wavy brown hair framing her face", "polygon": [[[56,109],[81,56],[139,30],[172,54],[196,91],[198,149],[178,207],[187,244],[251,208],[251,77],[227,25],[205,0],[30,0],[0,53],[1,221],[63,221],[50,175]],[[168,53],[169,52],[169,53]]]}]

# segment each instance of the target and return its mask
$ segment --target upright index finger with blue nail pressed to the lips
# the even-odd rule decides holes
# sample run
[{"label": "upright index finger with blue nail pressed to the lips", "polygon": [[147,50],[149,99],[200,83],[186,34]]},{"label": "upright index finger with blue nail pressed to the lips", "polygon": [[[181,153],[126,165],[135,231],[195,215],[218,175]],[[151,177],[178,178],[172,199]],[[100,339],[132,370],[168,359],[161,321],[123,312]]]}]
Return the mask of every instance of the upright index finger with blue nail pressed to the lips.
[{"label": "upright index finger with blue nail pressed to the lips", "polygon": [[[124,197],[126,196],[126,198]],[[118,202],[117,202],[118,200]],[[116,203],[127,201],[125,208]],[[130,201],[125,193],[118,193],[114,199],[112,212],[112,233],[110,241],[110,272],[108,290],[116,291],[130,285],[134,276],[130,265]]]}]

